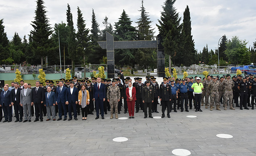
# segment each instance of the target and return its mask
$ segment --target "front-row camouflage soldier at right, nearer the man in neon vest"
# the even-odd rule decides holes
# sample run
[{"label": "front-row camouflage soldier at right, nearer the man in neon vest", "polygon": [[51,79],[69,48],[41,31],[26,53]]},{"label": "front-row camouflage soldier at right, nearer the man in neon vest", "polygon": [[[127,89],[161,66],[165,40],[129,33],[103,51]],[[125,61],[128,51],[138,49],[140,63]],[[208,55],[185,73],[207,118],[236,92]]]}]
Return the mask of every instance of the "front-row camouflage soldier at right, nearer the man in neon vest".
[{"label": "front-row camouflage soldier at right, nearer the man in neon vest", "polygon": [[216,105],[216,110],[219,109],[219,81],[216,80],[216,76],[212,77],[212,81],[210,82],[209,86],[210,88],[210,110],[212,110],[212,106],[214,106],[214,102]]}]

